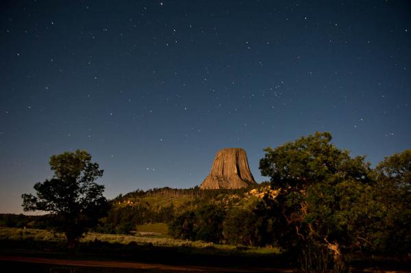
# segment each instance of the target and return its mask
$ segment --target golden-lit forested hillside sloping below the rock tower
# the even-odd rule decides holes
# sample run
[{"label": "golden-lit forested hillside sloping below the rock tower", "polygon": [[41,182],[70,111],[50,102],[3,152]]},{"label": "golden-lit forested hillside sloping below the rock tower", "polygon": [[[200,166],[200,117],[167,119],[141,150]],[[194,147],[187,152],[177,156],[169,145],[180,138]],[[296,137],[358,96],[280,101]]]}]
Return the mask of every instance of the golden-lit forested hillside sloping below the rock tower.
[{"label": "golden-lit forested hillside sloping below the rock tower", "polygon": [[[203,204],[213,203],[221,206],[240,204],[248,200],[255,189],[267,187],[262,183],[254,187],[242,189],[200,190],[199,187],[190,189],[173,189],[171,187],[155,188],[152,190],[136,190],[120,195],[111,201],[111,209],[106,218],[100,220],[97,231],[105,233],[129,233],[136,225],[164,222],[169,223],[182,211],[197,209]],[[255,193],[260,193],[256,190]]]}]

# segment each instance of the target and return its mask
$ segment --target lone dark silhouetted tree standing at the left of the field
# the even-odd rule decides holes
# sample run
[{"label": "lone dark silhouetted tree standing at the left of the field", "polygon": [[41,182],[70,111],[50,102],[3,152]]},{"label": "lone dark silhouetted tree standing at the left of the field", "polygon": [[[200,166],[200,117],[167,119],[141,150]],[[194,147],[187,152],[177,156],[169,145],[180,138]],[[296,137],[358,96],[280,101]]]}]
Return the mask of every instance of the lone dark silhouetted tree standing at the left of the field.
[{"label": "lone dark silhouetted tree standing at the left of the field", "polygon": [[108,210],[104,185],[95,180],[103,176],[99,164],[91,162],[86,151],[66,152],[50,157],[51,179],[34,185],[36,196],[22,194],[24,211],[46,211],[57,231],[66,235],[69,250]]}]

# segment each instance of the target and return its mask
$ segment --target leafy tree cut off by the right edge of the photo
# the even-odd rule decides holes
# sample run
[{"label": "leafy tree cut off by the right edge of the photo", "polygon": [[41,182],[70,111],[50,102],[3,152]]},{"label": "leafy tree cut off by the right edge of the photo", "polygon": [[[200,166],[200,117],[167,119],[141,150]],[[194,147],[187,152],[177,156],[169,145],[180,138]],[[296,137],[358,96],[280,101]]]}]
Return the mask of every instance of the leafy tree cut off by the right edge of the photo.
[{"label": "leafy tree cut off by the right edge of the photo", "polygon": [[379,205],[379,225],[369,241],[374,250],[406,257],[411,254],[411,149],[385,157],[375,174],[371,194]]}]

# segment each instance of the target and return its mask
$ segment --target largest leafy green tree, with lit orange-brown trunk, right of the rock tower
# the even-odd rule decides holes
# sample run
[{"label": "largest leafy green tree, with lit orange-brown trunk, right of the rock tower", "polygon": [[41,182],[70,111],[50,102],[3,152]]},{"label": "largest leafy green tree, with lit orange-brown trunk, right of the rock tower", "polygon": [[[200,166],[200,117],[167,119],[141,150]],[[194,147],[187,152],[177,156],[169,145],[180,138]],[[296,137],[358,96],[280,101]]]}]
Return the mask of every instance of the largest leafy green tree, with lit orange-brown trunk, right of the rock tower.
[{"label": "largest leafy green tree, with lit orange-brown trunk, right of the rock tower", "polygon": [[[347,203],[359,203],[364,187],[372,183],[364,157],[351,158],[331,140],[330,133],[316,132],[266,148],[260,160],[262,175],[279,190],[277,198],[269,200],[277,241],[295,255],[304,272],[323,272],[330,260],[336,272],[346,270],[343,250],[356,240]],[[341,190],[349,190],[349,195]]]}]

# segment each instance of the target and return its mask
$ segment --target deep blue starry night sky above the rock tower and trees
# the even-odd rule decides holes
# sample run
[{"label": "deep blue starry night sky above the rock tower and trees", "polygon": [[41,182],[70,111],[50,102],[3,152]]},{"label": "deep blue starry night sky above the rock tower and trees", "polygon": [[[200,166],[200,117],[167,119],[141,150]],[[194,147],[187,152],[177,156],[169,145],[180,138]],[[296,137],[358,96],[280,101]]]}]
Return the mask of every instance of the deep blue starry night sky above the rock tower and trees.
[{"label": "deep blue starry night sky above the rock tower and trees", "polygon": [[411,147],[410,1],[1,1],[0,213],[85,149],[105,196],[194,187],[225,147]]}]

